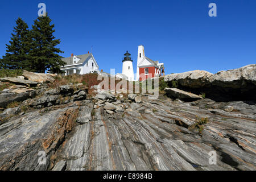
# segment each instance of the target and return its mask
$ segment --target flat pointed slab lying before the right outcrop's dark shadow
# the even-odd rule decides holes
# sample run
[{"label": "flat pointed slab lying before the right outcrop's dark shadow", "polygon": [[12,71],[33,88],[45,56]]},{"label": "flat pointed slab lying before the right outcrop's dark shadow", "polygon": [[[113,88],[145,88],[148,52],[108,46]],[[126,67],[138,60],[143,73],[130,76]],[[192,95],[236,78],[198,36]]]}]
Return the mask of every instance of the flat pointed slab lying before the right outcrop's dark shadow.
[{"label": "flat pointed slab lying before the right outcrop's dark shadow", "polygon": [[181,100],[199,100],[202,97],[197,96],[196,94],[185,92],[177,88],[165,88],[164,91],[167,93],[167,96],[174,98],[179,98]]}]

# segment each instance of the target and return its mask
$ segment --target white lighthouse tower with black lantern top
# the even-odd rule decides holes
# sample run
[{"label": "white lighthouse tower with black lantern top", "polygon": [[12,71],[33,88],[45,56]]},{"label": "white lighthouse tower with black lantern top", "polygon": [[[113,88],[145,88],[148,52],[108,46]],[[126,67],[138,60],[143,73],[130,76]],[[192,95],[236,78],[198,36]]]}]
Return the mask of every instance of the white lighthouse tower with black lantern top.
[{"label": "white lighthouse tower with black lantern top", "polygon": [[127,76],[129,81],[134,81],[133,60],[131,60],[131,54],[126,51],[124,56],[122,74]]}]

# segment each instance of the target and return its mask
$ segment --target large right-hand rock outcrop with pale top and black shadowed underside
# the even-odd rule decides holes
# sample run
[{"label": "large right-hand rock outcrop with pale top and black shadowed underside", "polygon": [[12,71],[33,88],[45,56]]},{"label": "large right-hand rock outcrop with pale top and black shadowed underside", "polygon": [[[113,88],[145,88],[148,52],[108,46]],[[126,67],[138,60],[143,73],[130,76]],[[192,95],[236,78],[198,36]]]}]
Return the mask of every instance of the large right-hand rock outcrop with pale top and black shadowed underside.
[{"label": "large right-hand rock outcrop with pale top and black shadowed underside", "polygon": [[177,81],[178,88],[195,94],[205,93],[215,101],[256,100],[256,64],[212,74],[190,71],[164,76],[170,86]]}]

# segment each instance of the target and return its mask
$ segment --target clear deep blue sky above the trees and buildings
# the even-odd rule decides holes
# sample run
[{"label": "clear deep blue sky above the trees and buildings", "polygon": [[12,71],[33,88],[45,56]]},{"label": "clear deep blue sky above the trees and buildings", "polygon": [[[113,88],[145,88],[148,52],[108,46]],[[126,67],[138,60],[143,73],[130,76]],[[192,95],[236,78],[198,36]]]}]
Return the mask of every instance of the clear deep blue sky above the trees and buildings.
[{"label": "clear deep blue sky above the trees and buildings", "polygon": [[[0,56],[20,16],[31,27],[38,3],[46,3],[64,54],[90,51],[100,69],[122,72],[127,50],[137,64],[137,49],[164,63],[166,73],[221,70],[256,64],[255,0],[1,0]],[[208,5],[217,5],[209,17]]]}]

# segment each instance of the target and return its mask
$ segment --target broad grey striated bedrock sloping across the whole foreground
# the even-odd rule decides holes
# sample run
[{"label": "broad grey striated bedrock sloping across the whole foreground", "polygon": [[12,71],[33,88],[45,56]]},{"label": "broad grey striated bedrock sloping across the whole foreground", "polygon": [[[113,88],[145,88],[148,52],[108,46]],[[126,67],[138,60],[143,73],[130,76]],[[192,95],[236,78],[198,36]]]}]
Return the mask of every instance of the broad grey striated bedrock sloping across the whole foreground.
[{"label": "broad grey striated bedrock sloping across the whole foreground", "polygon": [[[49,96],[54,95],[43,97]],[[256,170],[255,104],[100,101],[97,109],[90,100],[77,101],[80,105],[31,110],[0,124],[0,169]],[[124,113],[105,110],[107,105],[124,106]],[[209,121],[201,133],[194,127],[200,118]],[[46,152],[45,165],[38,163],[40,151]],[[216,165],[209,164],[210,151],[217,154]]]}]

